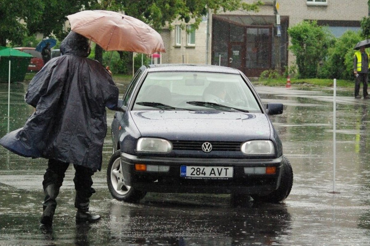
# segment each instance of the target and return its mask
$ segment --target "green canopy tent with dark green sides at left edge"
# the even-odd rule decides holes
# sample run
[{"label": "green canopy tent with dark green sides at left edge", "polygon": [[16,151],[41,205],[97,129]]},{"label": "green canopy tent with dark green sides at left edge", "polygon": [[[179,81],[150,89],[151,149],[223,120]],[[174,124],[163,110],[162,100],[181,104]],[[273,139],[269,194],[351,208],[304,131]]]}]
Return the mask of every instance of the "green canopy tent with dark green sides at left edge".
[{"label": "green canopy tent with dark green sides at left edge", "polygon": [[10,82],[22,82],[32,57],[16,49],[0,46],[0,83],[9,82],[9,66]]}]

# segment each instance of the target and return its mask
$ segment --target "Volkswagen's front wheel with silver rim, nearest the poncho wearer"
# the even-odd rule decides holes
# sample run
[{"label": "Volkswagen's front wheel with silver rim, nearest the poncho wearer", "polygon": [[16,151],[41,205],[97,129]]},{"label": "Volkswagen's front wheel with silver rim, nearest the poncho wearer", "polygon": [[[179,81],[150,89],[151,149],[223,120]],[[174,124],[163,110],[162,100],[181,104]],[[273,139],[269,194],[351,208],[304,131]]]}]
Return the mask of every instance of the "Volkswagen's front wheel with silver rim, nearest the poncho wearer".
[{"label": "Volkswagen's front wheel with silver rim, nearest the poncho wearer", "polygon": [[107,183],[108,189],[116,200],[125,202],[138,202],[144,198],[146,192],[139,191],[124,183],[122,166],[121,166],[121,151],[116,151],[108,163],[107,168]]}]

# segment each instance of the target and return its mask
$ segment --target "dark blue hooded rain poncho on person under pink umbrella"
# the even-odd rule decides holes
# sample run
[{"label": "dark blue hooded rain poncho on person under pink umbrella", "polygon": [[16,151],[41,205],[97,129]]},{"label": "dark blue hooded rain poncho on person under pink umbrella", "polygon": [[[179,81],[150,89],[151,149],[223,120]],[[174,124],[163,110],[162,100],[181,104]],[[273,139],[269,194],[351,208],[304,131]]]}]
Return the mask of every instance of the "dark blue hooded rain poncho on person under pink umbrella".
[{"label": "dark blue hooded rain poncho on person under pink umbrella", "polygon": [[107,132],[105,107],[117,109],[118,88],[96,60],[88,40],[73,31],[28,85],[26,102],[36,108],[23,128],[0,139],[26,157],[44,157],[100,170]]}]

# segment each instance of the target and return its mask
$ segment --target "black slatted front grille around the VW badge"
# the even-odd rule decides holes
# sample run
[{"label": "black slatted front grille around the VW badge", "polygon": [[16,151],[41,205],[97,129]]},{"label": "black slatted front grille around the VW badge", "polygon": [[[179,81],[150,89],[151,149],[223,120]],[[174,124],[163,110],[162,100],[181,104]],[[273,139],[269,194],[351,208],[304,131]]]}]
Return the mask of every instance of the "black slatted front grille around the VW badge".
[{"label": "black slatted front grille around the VW badge", "polygon": [[212,145],[212,151],[240,151],[241,142],[218,142],[218,141],[171,141],[174,150],[200,150],[202,144],[209,142]]}]

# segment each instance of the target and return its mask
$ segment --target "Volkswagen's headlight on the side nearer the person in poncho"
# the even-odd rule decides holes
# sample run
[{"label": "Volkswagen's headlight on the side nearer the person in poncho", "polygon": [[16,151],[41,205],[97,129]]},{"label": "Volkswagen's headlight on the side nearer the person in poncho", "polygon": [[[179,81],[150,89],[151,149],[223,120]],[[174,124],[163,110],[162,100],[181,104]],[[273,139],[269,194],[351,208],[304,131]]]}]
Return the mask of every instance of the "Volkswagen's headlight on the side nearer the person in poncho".
[{"label": "Volkswagen's headlight on the side nearer the person in poncho", "polygon": [[172,143],[161,138],[139,138],[136,144],[137,152],[168,153],[172,150]]}]

